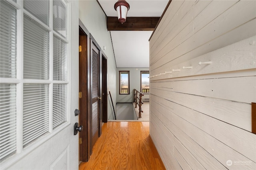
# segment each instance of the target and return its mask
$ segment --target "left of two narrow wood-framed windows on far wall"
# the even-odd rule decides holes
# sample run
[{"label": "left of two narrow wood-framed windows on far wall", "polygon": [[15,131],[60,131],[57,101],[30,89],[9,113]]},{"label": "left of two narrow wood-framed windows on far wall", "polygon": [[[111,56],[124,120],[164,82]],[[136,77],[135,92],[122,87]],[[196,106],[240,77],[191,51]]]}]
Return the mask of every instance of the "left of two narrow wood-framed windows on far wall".
[{"label": "left of two narrow wood-framed windows on far wall", "polygon": [[130,94],[130,71],[119,71],[119,94]]}]

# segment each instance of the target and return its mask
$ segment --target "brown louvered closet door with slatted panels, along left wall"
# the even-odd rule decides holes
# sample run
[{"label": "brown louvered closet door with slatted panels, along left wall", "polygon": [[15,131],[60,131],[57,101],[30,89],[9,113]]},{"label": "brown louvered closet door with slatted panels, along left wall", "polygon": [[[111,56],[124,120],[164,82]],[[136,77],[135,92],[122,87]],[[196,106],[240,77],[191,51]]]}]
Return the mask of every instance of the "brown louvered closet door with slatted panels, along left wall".
[{"label": "brown louvered closet door with slatted panels, along left wall", "polygon": [[99,49],[92,43],[92,146],[99,134]]}]

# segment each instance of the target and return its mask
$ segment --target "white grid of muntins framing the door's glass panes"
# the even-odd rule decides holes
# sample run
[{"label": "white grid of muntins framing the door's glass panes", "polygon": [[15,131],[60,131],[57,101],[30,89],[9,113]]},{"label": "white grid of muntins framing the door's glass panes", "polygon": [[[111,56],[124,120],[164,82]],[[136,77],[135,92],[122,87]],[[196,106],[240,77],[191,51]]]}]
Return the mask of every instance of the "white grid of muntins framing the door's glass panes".
[{"label": "white grid of muntins framing the door's glass panes", "polygon": [[[27,154],[35,147],[42,145],[45,141],[50,139],[56,133],[61,131],[63,128],[70,125],[70,114],[69,112],[69,103],[70,103],[70,68],[71,65],[71,56],[70,56],[70,34],[71,30],[69,29],[70,21],[70,5],[68,1],[61,0],[64,4],[66,4],[66,38],[54,31],[53,29],[53,1],[50,0],[49,4],[49,26],[44,24],[42,21],[35,18],[32,14],[26,11],[23,8],[23,0],[6,0],[10,5],[12,5],[17,10],[17,44],[16,44],[16,78],[0,78],[1,84],[16,84],[16,154],[11,155],[10,157],[4,158],[3,161],[12,158],[13,156],[22,157],[23,155]],[[24,14],[32,18],[34,21],[39,23],[42,27],[49,31],[49,80],[37,80],[37,79],[23,79],[23,18]],[[58,37],[61,41],[67,43],[67,80],[60,81],[60,80],[53,80],[53,37]],[[23,147],[23,137],[22,137],[22,115],[23,115],[23,84],[49,84],[49,131],[43,137],[40,137],[40,140],[37,140],[31,143],[30,147]],[[66,123],[63,123],[57,128],[53,127],[53,84],[66,84],[66,95],[67,95],[67,107],[66,107]],[[1,161],[2,162],[2,161]]]}]

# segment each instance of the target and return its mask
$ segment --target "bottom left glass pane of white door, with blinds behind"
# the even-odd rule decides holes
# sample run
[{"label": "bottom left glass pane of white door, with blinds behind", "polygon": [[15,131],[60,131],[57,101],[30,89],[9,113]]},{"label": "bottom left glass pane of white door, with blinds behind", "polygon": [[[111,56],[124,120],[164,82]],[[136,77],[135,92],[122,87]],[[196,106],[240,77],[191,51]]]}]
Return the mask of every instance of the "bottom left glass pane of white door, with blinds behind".
[{"label": "bottom left glass pane of white door, with blinds behind", "polygon": [[0,84],[0,160],[15,152],[16,84]]}]

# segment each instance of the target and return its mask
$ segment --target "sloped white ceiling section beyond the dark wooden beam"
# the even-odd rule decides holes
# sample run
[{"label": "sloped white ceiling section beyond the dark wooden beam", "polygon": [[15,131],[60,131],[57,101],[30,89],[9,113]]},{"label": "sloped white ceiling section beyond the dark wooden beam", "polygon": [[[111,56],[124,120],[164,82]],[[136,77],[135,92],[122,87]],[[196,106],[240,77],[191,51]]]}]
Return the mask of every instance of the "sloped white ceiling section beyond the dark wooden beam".
[{"label": "sloped white ceiling section beyond the dark wooden beam", "polygon": [[153,31],[111,31],[118,68],[148,68],[149,41]]}]

